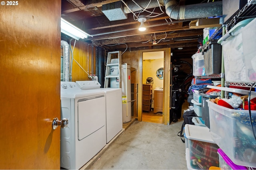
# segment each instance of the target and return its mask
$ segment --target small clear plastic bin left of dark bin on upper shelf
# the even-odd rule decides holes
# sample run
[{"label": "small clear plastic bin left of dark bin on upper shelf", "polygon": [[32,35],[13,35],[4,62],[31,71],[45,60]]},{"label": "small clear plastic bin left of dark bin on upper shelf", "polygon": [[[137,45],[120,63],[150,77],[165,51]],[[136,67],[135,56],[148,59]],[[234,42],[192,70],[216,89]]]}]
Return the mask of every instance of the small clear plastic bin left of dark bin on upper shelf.
[{"label": "small clear plastic bin left of dark bin on upper shelf", "polygon": [[202,76],[202,71],[204,68],[204,55],[202,53],[196,53],[192,55],[193,59],[193,75]]}]

